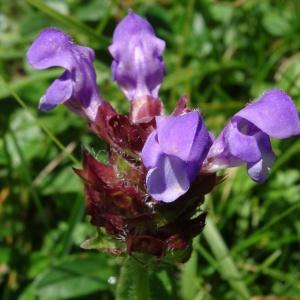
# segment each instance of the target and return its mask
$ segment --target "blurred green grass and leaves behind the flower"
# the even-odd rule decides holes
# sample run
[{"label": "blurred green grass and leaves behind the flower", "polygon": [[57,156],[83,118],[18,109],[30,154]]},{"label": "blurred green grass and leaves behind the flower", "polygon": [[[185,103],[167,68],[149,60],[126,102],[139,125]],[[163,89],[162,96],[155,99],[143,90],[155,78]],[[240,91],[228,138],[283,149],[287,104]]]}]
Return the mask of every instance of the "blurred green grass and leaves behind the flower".
[{"label": "blurred green grass and leaves behind the flower", "polygon": [[[101,94],[126,111],[107,46],[130,7],[166,40],[168,111],[188,95],[217,134],[267,88],[284,89],[300,109],[300,1],[0,0],[2,300],[114,299],[122,258],[80,248],[95,229],[71,168],[83,146],[101,154],[104,145],[65,107],[37,110],[62,70],[34,71],[25,53],[42,28],[65,30],[95,49]],[[300,140],[273,146],[278,159],[265,184],[244,167],[227,172],[206,202],[216,226],[195,239],[186,265],[157,267],[153,299],[300,297]]]}]

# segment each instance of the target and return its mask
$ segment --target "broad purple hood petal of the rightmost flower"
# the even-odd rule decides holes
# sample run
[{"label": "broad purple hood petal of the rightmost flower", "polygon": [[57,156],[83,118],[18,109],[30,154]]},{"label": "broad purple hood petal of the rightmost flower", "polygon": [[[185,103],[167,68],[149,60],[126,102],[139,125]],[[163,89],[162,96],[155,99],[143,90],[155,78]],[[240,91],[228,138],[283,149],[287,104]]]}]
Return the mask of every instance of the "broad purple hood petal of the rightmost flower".
[{"label": "broad purple hood petal of the rightmost flower", "polygon": [[295,104],[281,90],[265,92],[236,116],[248,120],[274,138],[282,139],[300,134],[300,119]]}]

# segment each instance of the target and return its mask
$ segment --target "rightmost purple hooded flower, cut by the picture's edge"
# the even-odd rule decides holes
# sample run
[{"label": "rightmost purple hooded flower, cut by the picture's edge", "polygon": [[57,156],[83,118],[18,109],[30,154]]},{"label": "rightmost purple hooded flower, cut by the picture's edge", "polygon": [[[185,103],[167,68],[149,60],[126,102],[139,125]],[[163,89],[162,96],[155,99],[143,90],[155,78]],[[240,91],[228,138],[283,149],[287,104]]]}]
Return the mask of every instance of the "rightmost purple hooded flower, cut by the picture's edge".
[{"label": "rightmost purple hooded flower, cut by the picture's edge", "polygon": [[236,113],[214,141],[205,169],[217,171],[247,164],[249,176],[263,182],[275,160],[270,137],[300,134],[300,119],[292,99],[273,89]]}]

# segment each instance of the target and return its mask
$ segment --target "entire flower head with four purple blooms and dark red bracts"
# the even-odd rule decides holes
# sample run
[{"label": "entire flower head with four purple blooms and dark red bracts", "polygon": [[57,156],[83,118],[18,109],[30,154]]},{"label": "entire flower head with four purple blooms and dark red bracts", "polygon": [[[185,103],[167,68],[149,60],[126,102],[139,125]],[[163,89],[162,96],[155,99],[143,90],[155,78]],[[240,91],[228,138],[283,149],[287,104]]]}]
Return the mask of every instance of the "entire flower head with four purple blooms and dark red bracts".
[{"label": "entire flower head with four purple blooms and dark red bracts", "polygon": [[110,146],[108,164],[84,151],[83,169],[75,170],[84,182],[92,224],[111,237],[97,247],[183,261],[205,224],[206,213],[199,210],[204,195],[222,180],[216,173],[245,164],[249,176],[263,182],[275,159],[270,137],[299,135],[300,120],[292,99],[278,89],[237,112],[216,138],[185,97],[165,115],[159,98],[164,48],[152,26],[132,11],[115,29],[112,74],[130,101],[128,115],[99,95],[93,50],[62,31],[41,32],[27,57],[37,69],[65,69],[42,96],[40,109],[64,103]]}]

